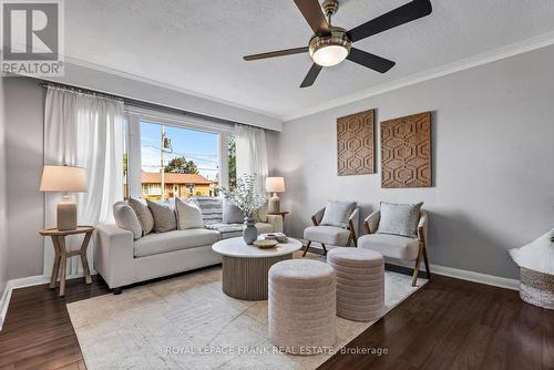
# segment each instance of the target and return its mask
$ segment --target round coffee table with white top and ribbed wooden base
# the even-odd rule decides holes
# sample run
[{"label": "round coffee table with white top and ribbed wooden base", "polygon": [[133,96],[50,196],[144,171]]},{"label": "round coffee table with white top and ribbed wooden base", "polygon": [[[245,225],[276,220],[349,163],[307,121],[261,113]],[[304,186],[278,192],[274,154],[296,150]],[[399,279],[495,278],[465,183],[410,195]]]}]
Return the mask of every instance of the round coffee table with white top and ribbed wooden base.
[{"label": "round coffee table with white top and ribbed wooden base", "polygon": [[291,259],[293,253],[301,247],[302,244],[293,238],[271,249],[249,246],[243,237],[217,241],[212,249],[223,256],[223,292],[242,300],[266,300],[269,268]]}]

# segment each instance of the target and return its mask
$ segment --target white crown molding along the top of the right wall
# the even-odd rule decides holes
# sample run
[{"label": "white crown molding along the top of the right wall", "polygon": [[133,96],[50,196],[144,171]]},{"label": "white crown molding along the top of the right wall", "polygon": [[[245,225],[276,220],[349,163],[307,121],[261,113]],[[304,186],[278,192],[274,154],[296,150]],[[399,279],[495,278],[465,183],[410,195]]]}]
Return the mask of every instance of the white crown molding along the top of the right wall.
[{"label": "white crown molding along the top of the right wall", "polygon": [[289,122],[293,120],[297,120],[307,115],[311,115],[315,113],[319,113],[321,111],[326,111],[329,109],[334,109],[340,105],[350,104],[362,99],[371,97],[375,95],[380,95],[393,90],[398,90],[401,88],[410,86],[420,82],[433,80],[437,78],[441,78],[448,74],[452,74],[455,72],[464,71],[472,69],[474,66],[492,63],[499,60],[503,60],[510,56],[514,56],[517,54],[522,54],[529,51],[533,51],[536,49],[546,48],[554,44],[554,32],[548,32],[541,34],[538,37],[534,37],[531,39],[526,39],[516,43],[512,43],[506,47],[502,47],[499,49],[494,49],[481,54],[472,55],[452,63],[448,63],[441,66],[437,66],[423,72],[414,73],[409,76],[391,81],[389,83],[383,83],[378,86],[373,86],[371,89],[367,89],[360,92],[356,92],[352,94],[348,94],[338,99],[334,99],[326,103],[316,104],[312,106],[308,106],[306,109],[296,111],[291,114],[285,115],[283,120],[285,122]]}]

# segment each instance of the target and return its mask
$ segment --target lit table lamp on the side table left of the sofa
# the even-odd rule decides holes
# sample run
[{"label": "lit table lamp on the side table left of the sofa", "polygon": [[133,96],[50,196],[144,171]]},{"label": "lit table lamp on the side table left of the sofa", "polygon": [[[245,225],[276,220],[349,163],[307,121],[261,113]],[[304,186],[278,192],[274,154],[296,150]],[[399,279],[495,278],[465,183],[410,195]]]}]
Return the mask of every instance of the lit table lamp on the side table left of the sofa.
[{"label": "lit table lamp on the side table left of the sofa", "polygon": [[41,192],[62,192],[62,202],[58,204],[57,219],[59,230],[76,229],[76,204],[68,193],[86,192],[86,172],[73,166],[44,166]]}]

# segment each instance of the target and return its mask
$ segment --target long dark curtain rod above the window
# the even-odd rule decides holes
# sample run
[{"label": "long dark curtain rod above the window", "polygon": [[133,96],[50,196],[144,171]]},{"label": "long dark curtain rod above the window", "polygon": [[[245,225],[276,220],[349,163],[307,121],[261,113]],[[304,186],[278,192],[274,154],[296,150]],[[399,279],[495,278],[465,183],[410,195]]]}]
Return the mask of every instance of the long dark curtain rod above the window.
[{"label": "long dark curtain rod above the window", "polygon": [[80,88],[80,86],[74,86],[74,85],[69,85],[69,84],[64,84],[64,83],[60,83],[60,82],[52,82],[52,81],[48,81],[48,80],[40,80],[40,85],[42,88],[44,88],[44,89],[48,89],[49,86],[51,86],[51,88],[57,88],[57,89],[62,89],[62,90],[78,92],[78,93],[81,93],[81,94],[89,94],[89,95],[104,97],[104,99],[113,99],[113,100],[116,100],[116,101],[121,101],[121,102],[123,102],[126,105],[136,106],[136,107],[143,107],[143,109],[147,109],[147,110],[152,110],[152,111],[171,112],[171,113],[174,113],[174,114],[177,114],[177,115],[196,117],[196,119],[202,119],[202,120],[212,121],[212,122],[218,122],[218,123],[225,123],[225,124],[232,124],[232,125],[242,124],[242,125],[245,125],[245,126],[249,126],[249,127],[254,127],[254,129],[259,129],[257,126],[245,124],[245,123],[238,123],[238,122],[235,122],[235,121],[229,121],[229,120],[224,120],[224,119],[217,119],[217,117],[213,117],[213,116],[205,115],[205,114],[193,113],[193,112],[179,110],[179,109],[176,109],[176,107],[165,106],[165,105],[161,105],[161,104],[156,104],[156,103],[148,103],[148,102],[144,102],[144,101],[135,100],[135,99],[130,99],[130,97],[123,97],[123,96],[119,96],[119,95],[107,94],[107,93],[104,93],[104,92],[100,92],[100,91],[95,91],[95,90],[90,90],[90,89],[85,89],[85,88]]}]

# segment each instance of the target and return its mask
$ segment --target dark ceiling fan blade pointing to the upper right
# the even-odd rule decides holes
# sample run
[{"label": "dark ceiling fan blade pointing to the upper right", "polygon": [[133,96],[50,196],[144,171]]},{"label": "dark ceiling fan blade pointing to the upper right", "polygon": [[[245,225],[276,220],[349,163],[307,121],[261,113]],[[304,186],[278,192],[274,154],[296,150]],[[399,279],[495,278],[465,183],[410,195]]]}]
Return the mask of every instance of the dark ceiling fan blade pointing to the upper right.
[{"label": "dark ceiling fan blade pointing to the upper right", "polygon": [[421,17],[429,16],[432,10],[430,0],[413,0],[351,29],[348,31],[348,35],[352,42],[359,41],[379,32],[414,21]]}]

